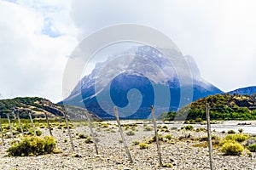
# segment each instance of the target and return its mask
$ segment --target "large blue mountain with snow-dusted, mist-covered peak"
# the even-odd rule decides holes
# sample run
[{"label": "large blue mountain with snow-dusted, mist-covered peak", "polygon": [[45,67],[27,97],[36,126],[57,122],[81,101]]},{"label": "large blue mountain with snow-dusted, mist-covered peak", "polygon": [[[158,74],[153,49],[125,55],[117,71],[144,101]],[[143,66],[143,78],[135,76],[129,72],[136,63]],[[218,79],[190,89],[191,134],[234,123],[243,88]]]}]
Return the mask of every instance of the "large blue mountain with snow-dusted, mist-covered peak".
[{"label": "large blue mountain with snow-dusted, mist-covered peak", "polygon": [[64,102],[85,106],[102,118],[113,117],[113,105],[125,108],[120,111],[125,118],[148,118],[151,105],[160,114],[177,111],[188,101],[222,93],[201,78],[191,56],[183,57],[176,48],[159,51],[140,46],[97,63]]}]

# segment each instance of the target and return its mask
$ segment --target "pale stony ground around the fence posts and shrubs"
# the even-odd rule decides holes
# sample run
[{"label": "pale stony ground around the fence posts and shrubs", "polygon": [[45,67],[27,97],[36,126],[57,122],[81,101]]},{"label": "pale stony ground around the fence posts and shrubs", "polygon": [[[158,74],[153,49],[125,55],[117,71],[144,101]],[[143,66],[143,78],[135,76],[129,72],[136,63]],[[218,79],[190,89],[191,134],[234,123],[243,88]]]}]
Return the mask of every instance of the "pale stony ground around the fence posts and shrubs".
[{"label": "pale stony ground around the fence posts and shrubs", "polygon": [[[122,124],[134,123],[122,121]],[[210,169],[208,149],[195,147],[194,144],[201,144],[201,137],[206,132],[195,132],[178,130],[175,124],[164,124],[159,133],[165,136],[171,134],[172,139],[161,141],[160,150],[162,161],[165,165],[173,167],[159,167],[156,145],[149,144],[148,149],[140,150],[134,142],[145,142],[154,136],[151,122],[137,121],[137,127],[123,127],[125,139],[127,140],[133,162],[128,160],[125,154],[124,144],[121,140],[118,127],[115,122],[94,123],[93,130],[98,139],[99,155],[96,155],[94,144],[86,144],[85,139],[79,138],[79,133],[90,134],[90,128],[85,123],[74,122],[71,129],[75,151],[69,143],[67,129],[54,127],[53,135],[57,141],[57,147],[62,150],[60,154],[49,154],[44,156],[10,157],[6,150],[9,148],[12,139],[5,139],[6,145],[1,145],[0,169]],[[166,131],[164,126],[168,127]],[[149,131],[145,131],[149,127]],[[126,129],[126,130],[125,130]],[[43,136],[49,135],[47,128],[40,129]],[[127,132],[134,132],[134,135],[127,135]],[[166,132],[164,132],[166,131]],[[212,132],[219,138],[225,133]],[[184,139],[188,137],[188,139]],[[256,169],[256,153],[247,156],[224,156],[218,149],[213,150],[213,163],[215,169]]]}]

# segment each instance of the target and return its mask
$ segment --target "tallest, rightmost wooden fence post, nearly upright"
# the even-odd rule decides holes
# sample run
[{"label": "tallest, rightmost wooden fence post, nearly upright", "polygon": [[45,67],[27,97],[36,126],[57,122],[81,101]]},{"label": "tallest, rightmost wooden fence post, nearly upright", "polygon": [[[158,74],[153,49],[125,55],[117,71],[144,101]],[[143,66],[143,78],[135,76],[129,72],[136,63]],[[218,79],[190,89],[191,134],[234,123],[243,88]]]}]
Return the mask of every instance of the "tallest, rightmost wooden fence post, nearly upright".
[{"label": "tallest, rightmost wooden fence post, nearly upright", "polygon": [[212,160],[212,134],[211,134],[211,122],[210,122],[210,108],[209,108],[209,104],[207,104],[207,135],[208,135],[210,167],[211,167],[211,170],[213,170],[213,160]]}]

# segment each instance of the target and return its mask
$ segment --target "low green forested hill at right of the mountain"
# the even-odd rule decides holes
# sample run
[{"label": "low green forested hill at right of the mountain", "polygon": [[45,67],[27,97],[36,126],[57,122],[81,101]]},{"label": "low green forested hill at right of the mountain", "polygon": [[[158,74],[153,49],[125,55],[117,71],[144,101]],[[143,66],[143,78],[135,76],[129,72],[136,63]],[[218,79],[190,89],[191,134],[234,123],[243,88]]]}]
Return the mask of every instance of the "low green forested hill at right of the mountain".
[{"label": "low green forested hill at right of the mountain", "polygon": [[216,94],[198,99],[177,112],[164,113],[166,120],[206,120],[206,104],[212,120],[256,120],[256,95]]}]

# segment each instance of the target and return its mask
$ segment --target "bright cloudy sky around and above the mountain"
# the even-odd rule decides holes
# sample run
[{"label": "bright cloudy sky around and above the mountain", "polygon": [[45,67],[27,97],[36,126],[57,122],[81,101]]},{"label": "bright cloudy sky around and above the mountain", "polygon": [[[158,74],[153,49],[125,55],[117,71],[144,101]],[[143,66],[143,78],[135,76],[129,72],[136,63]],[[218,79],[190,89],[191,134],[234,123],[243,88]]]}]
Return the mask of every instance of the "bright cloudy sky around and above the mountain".
[{"label": "bright cloudy sky around and above the mountain", "polygon": [[0,99],[61,101],[73,49],[124,23],[166,34],[224,92],[256,85],[255,8],[253,0],[0,0]]}]

